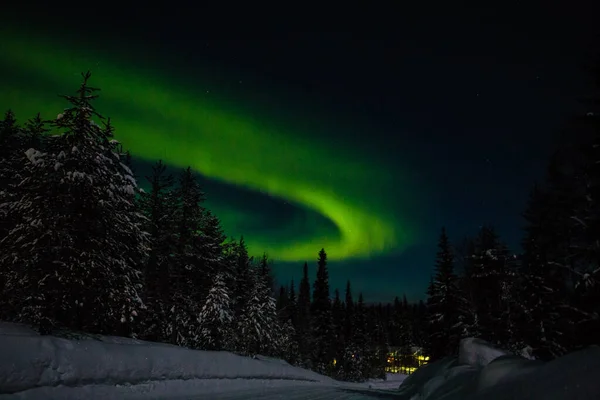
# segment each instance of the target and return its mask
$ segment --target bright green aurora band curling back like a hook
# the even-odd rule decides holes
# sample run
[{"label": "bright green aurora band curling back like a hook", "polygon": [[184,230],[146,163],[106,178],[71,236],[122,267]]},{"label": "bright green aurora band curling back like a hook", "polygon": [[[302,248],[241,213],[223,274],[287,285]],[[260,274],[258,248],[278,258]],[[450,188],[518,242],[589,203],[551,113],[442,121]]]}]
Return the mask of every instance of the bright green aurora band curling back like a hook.
[{"label": "bright green aurora band curling back like a hook", "polygon": [[[251,251],[304,261],[324,247],[331,260],[348,260],[402,250],[414,240],[406,221],[367,195],[374,181],[394,182],[364,157],[361,161],[339,148],[324,148],[298,129],[282,129],[230,101],[196,93],[192,84],[177,87],[148,68],[99,58],[99,52],[90,54],[89,49],[86,54],[86,47],[6,36],[0,45],[0,106],[13,109],[19,120],[37,112],[55,117],[66,106],[55,95],[57,89],[72,93],[79,73],[89,69],[91,85],[102,89],[99,112],[111,117],[117,139],[134,156],[189,165],[211,179],[267,192],[321,214],[339,230],[332,235],[317,229],[293,243],[248,234]],[[227,225],[225,229],[230,231]]]}]

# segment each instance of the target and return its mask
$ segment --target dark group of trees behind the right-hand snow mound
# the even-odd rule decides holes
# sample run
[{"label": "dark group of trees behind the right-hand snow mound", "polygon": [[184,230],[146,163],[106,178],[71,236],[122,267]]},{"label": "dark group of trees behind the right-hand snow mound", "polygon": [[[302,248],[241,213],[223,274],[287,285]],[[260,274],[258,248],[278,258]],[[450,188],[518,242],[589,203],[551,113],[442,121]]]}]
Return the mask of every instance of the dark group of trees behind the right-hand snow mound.
[{"label": "dark group of trees behind the right-hand snow mound", "polygon": [[432,359],[468,336],[542,360],[600,344],[600,96],[582,105],[531,190],[522,253],[490,226],[458,246],[442,230],[427,292]]}]

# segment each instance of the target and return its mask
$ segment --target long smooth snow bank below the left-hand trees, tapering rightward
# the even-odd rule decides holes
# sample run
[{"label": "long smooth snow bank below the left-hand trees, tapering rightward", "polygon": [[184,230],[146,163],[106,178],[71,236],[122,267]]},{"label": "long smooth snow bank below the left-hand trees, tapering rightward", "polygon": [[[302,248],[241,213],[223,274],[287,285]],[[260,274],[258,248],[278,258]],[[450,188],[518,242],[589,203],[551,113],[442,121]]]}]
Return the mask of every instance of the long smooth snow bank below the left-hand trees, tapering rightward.
[{"label": "long smooth snow bank below the left-hand trees, tapering rightward", "polygon": [[[6,329],[8,331],[8,328]],[[228,352],[195,351],[177,346],[114,338],[67,340],[51,336],[0,336],[0,394],[39,387],[134,385],[192,379],[279,379],[332,381],[279,361]]]}]

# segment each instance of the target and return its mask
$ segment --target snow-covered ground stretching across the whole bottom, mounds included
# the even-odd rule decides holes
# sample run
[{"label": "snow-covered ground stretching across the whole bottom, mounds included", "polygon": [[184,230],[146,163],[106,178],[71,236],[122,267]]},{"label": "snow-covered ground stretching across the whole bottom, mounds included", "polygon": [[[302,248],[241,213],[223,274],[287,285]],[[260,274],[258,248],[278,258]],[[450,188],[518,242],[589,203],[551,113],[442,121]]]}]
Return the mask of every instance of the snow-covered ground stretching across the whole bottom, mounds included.
[{"label": "snow-covered ground stretching across the whole bottom, mounds included", "polygon": [[600,348],[543,364],[465,339],[459,357],[413,375],[349,384],[281,360],[138,340],[41,337],[0,324],[0,399],[591,400]]}]

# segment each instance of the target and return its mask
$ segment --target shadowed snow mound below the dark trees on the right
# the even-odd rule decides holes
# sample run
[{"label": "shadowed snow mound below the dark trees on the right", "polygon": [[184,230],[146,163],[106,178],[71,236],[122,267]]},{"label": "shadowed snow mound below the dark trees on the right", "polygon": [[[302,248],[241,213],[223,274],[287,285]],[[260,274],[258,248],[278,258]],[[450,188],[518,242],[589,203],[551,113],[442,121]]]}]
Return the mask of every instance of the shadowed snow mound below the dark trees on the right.
[{"label": "shadowed snow mound below the dark trees on the right", "polygon": [[549,363],[509,355],[479,339],[464,339],[458,358],[420,368],[400,385],[410,400],[600,399],[600,347]]}]

